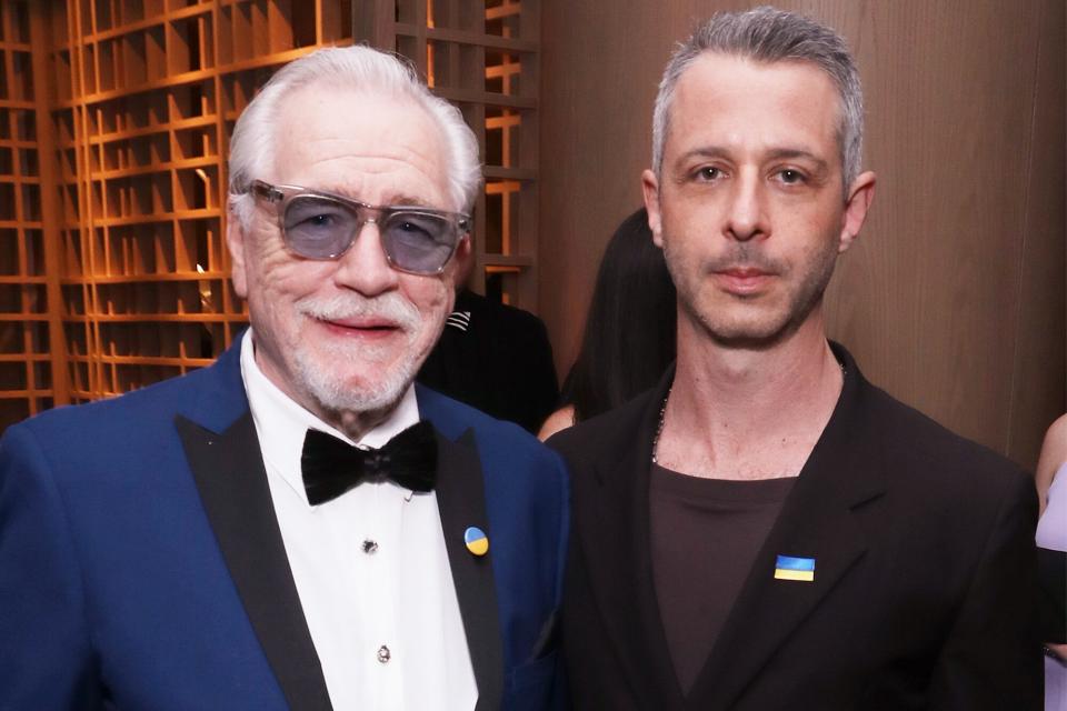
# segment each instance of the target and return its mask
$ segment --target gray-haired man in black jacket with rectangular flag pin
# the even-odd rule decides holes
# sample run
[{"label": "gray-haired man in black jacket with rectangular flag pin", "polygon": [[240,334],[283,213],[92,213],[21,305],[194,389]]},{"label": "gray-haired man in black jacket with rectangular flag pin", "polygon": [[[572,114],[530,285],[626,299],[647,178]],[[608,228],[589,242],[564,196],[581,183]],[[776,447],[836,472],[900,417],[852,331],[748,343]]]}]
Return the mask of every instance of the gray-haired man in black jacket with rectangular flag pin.
[{"label": "gray-haired man in black jacket with rectangular flag pin", "polygon": [[660,387],[557,435],[576,708],[1037,709],[1036,502],[1016,467],[869,384],[822,293],[875,190],[844,41],[760,8],[664,73]]}]

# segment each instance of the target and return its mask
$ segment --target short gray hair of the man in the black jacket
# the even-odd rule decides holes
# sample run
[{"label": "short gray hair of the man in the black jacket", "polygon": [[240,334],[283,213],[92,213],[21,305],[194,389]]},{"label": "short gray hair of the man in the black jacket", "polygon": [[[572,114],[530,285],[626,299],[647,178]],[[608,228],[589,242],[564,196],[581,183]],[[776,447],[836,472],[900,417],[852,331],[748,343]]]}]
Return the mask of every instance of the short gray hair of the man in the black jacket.
[{"label": "short gray hair of the man in the black jacket", "polygon": [[667,62],[652,112],[652,170],[662,177],[664,148],[670,131],[670,104],[685,71],[705,52],[757,62],[804,61],[825,71],[841,98],[837,143],[844,189],[859,174],[864,152],[864,90],[845,40],[830,28],[770,7],[722,12],[702,22]]}]

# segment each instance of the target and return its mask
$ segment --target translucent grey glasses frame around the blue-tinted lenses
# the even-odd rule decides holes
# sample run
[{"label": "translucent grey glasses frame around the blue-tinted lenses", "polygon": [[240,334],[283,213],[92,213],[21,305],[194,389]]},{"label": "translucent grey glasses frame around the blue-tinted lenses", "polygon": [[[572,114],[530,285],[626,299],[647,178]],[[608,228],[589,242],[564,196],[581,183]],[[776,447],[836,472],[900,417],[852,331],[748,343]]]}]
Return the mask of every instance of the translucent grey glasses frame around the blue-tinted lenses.
[{"label": "translucent grey glasses frame around the blue-tinted lenses", "polygon": [[[459,243],[463,240],[465,237],[470,234],[470,222],[471,216],[466,212],[450,212],[448,210],[438,210],[435,208],[425,208],[421,206],[413,204],[386,204],[386,206],[376,206],[368,204],[366,202],[360,202],[359,200],[353,200],[352,198],[346,198],[345,196],[339,196],[332,192],[326,192],[323,190],[312,190],[310,188],[302,188],[300,186],[272,186],[269,182],[262,180],[253,180],[249,183],[248,188],[245,190],[246,194],[251,194],[253,198],[262,198],[267,202],[277,206],[278,211],[278,231],[281,232],[281,241],[285,242],[286,249],[292,252],[293,254],[300,257],[301,259],[311,259],[316,261],[333,261],[338,260],[345,256],[348,250],[352,248],[352,244],[356,243],[356,240],[359,237],[359,231],[365,224],[372,223],[376,227],[380,226],[381,222],[389,219],[391,214],[397,212],[413,212],[417,214],[430,216],[435,218],[443,218],[448,221],[452,229],[456,230],[456,233],[459,236],[456,239],[456,243],[452,244],[451,250],[448,253],[448,257],[445,258],[445,261],[441,262],[441,266],[433,271],[419,271],[413,269],[407,269],[397,264],[392,256],[389,253],[389,250],[386,249],[385,240],[381,242],[381,252],[386,256],[386,261],[389,263],[391,269],[396,271],[403,272],[406,274],[416,274],[419,277],[435,277],[445,271],[445,267],[448,266],[448,262],[451,261],[452,257],[456,254],[456,250],[459,248]],[[337,254],[329,257],[309,257],[307,254],[301,254],[299,251],[293,249],[289,242],[289,238],[286,232],[286,210],[289,203],[296,198],[302,197],[312,197],[312,198],[326,198],[327,200],[332,200],[339,202],[342,206],[352,208],[357,217],[361,217],[365,212],[375,212],[377,213],[373,218],[367,218],[362,222],[359,222],[356,227],[356,230],[352,232],[352,237],[349,240],[348,244]]]}]

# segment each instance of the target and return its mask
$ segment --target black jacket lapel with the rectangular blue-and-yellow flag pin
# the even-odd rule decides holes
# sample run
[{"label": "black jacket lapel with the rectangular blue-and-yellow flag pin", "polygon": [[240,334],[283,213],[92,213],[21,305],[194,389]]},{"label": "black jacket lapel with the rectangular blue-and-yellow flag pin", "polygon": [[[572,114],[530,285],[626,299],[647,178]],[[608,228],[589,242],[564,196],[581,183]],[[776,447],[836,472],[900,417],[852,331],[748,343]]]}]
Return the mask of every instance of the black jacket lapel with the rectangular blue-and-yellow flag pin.
[{"label": "black jacket lapel with the rectangular blue-and-yellow flag pin", "polygon": [[[867,385],[844,350],[838,357],[846,364],[838,404],[752,563],[689,708],[729,708],[867,549],[854,510],[884,492],[885,478],[878,439],[861,415]],[[815,580],[775,579],[778,555],[815,559]]]}]

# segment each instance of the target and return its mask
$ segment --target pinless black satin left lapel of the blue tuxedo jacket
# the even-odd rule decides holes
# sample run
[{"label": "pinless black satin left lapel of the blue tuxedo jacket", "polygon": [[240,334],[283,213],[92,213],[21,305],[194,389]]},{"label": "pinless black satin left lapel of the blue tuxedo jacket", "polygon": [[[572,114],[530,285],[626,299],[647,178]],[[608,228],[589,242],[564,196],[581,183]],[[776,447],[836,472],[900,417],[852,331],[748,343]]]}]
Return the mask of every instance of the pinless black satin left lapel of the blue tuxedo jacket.
[{"label": "pinless black satin left lapel of the blue tuxedo jacket", "polygon": [[275,514],[250,413],[217,434],[182,417],[200,499],[245,611],[293,711],[332,709]]}]

